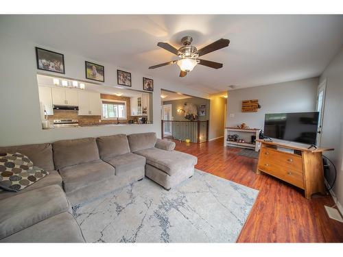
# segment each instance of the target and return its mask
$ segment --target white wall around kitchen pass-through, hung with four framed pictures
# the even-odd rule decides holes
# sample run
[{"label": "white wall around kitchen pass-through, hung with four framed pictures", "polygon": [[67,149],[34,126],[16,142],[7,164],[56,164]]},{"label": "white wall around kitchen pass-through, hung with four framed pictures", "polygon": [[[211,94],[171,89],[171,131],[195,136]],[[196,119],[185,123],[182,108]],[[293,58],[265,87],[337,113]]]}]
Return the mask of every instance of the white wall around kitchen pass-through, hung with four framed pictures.
[{"label": "white wall around kitchen pass-through, hung with four framed pictures", "polygon": [[[22,38],[14,38],[0,33],[0,145],[25,145],[45,143],[54,140],[101,136],[118,133],[156,132],[161,136],[161,88],[208,98],[209,96],[185,86],[175,85],[163,79],[154,79],[154,124],[127,125],[122,127],[76,127],[42,130],[38,100],[37,69],[34,47],[50,49],[49,46],[36,45]],[[104,63],[82,56],[66,53],[63,49],[50,49],[64,53],[65,77],[84,79],[84,61],[93,61],[105,66],[106,86],[117,85],[117,69],[132,73],[132,89],[142,90],[142,77],[145,74],[135,73],[129,69],[116,66],[115,63]],[[91,53],[89,53],[91,56]],[[58,73],[51,73],[56,74]]]}]

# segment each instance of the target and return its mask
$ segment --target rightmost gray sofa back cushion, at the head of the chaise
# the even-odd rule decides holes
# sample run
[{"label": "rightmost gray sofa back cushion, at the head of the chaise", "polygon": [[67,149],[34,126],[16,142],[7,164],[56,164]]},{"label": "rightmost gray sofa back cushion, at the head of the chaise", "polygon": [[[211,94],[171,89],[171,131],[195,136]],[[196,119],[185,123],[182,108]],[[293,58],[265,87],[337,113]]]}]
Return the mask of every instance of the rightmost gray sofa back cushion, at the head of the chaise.
[{"label": "rightmost gray sofa back cushion, at the head of the chaise", "polygon": [[128,135],[128,141],[132,153],[154,147],[156,145],[156,140],[155,132]]}]

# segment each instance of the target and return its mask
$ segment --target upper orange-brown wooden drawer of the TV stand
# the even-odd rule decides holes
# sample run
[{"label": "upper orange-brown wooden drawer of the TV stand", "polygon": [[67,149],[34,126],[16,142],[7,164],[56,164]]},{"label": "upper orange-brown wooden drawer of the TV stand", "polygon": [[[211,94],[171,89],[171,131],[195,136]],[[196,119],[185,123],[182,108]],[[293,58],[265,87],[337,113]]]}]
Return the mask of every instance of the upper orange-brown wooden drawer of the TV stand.
[{"label": "upper orange-brown wooden drawer of the TV stand", "polygon": [[303,159],[296,154],[288,154],[274,149],[263,148],[261,149],[260,158],[279,164],[287,169],[303,172]]}]

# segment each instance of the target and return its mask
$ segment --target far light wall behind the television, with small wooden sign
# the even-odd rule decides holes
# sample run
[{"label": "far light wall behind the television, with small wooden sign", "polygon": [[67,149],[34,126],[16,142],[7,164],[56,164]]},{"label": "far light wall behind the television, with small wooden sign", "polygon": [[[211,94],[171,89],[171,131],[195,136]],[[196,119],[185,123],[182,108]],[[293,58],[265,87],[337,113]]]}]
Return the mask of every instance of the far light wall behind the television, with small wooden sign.
[{"label": "far light wall behind the television, with small wooden sign", "polygon": [[[228,91],[226,125],[246,123],[263,130],[266,113],[311,112],[316,110],[318,77],[292,82]],[[241,112],[241,101],[259,99],[257,112]],[[230,117],[232,114],[235,117]]]}]

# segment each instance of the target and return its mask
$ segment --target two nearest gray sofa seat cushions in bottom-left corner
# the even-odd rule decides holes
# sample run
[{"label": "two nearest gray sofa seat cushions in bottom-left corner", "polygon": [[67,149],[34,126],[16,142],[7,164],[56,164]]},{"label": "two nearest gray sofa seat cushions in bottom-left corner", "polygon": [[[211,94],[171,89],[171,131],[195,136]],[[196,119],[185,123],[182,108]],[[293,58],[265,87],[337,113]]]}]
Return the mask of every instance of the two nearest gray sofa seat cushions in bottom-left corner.
[{"label": "two nearest gray sofa seat cushions in bottom-left corner", "polygon": [[84,242],[58,185],[8,197],[0,206],[0,242]]}]

